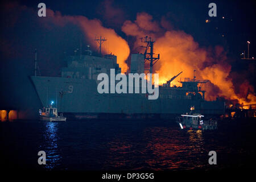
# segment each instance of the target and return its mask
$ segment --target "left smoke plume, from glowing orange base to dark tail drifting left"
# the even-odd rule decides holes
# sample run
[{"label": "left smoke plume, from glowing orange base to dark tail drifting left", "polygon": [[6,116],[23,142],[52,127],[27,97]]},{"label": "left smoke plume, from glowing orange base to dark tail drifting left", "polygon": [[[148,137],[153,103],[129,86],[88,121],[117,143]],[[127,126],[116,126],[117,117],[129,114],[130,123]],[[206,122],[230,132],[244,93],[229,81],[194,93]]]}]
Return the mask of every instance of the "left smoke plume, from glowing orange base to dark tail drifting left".
[{"label": "left smoke plume, from glowing orange base to dark tail drifting left", "polygon": [[[98,43],[95,41],[96,37],[104,37],[107,42],[102,44],[102,54],[112,53],[117,56],[117,63],[122,68],[122,72],[126,72],[128,67],[126,64],[127,57],[130,54],[130,48],[125,39],[121,38],[112,28],[106,28],[102,26],[102,23],[98,19],[88,19],[85,16],[71,16],[71,15],[61,15],[59,11],[52,11],[51,9],[46,10],[46,17],[39,17],[37,10],[28,8],[27,6],[19,5],[16,2],[6,3],[2,7],[5,14],[9,14],[6,22],[7,26],[15,27],[16,23],[24,17],[28,18],[24,27],[20,28],[20,31],[24,31],[27,24],[40,24],[39,28],[44,28],[44,30],[54,30],[59,31],[60,27],[65,26],[77,26],[79,27],[86,38],[86,42],[89,42],[90,46],[96,51],[98,49]],[[29,22],[31,21],[31,22]],[[63,31],[64,28],[63,28]],[[45,33],[45,32],[44,32]],[[72,40],[72,35],[69,39]],[[28,40],[29,41],[29,40]],[[52,40],[53,44],[55,40]],[[65,42],[65,40],[64,40]],[[6,43],[8,41],[6,40]],[[7,44],[3,45],[1,49],[5,48]],[[6,52],[6,51],[3,51]],[[6,54],[6,53],[5,53]]]}]

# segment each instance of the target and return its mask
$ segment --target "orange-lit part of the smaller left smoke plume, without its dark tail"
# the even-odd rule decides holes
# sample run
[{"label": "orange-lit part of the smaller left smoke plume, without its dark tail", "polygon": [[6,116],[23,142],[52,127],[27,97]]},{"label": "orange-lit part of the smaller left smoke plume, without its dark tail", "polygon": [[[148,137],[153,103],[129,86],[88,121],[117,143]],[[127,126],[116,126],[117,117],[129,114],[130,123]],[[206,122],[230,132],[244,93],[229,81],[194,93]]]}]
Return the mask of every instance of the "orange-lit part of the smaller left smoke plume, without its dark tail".
[{"label": "orange-lit part of the smaller left smoke plume, without its dark tail", "polygon": [[81,27],[84,32],[86,39],[89,40],[90,44],[97,49],[98,45],[95,41],[96,36],[102,36],[107,39],[107,42],[102,44],[102,52],[113,53],[117,55],[117,63],[119,67],[122,68],[122,73],[125,73],[128,69],[126,64],[126,60],[130,55],[130,48],[125,39],[121,38],[121,36],[117,35],[117,33],[112,28],[103,27],[101,21],[98,19],[88,19],[85,16],[63,16],[59,11],[52,11],[47,9],[47,17],[48,21],[52,21],[53,23],[64,26],[65,24],[71,22],[73,24],[77,24]]}]

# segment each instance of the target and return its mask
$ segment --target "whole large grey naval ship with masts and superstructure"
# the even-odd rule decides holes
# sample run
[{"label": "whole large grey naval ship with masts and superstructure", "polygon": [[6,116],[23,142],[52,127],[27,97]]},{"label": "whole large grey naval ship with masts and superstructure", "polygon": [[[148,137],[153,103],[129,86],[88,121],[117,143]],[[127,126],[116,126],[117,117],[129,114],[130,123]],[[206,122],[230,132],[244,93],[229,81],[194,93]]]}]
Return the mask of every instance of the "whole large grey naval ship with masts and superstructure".
[{"label": "whole large grey naval ship with masts and superstructure", "polygon": [[[154,41],[146,37],[142,42],[146,44],[144,53],[131,55],[130,73],[152,73],[153,65],[159,60],[159,55],[153,53]],[[110,69],[115,69],[115,74],[121,72],[117,56],[93,56],[89,49],[85,52],[85,55],[80,53],[65,59],[67,67],[61,69],[61,77],[36,75],[35,59],[35,75],[31,80],[43,107],[54,102],[59,113],[68,119],[169,119],[187,113],[191,107],[210,117],[224,114],[224,101],[204,99],[208,80],[197,80],[195,76],[180,78],[181,87],[171,86],[171,81],[181,72],[166,84],[159,85],[156,100],[148,100],[148,93],[100,94],[97,91],[98,74],[110,75]],[[150,69],[144,68],[146,61],[149,61]]]}]

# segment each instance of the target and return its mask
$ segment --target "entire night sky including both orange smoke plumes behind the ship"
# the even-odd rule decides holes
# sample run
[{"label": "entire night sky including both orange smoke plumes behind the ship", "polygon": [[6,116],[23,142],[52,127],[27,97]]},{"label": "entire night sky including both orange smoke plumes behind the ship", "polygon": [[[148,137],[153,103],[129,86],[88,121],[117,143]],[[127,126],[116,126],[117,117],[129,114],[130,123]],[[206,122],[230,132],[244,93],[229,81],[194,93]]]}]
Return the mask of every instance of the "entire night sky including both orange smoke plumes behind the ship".
[{"label": "entire night sky including both orange smoke plumes behind the ship", "polygon": [[[40,2],[46,17],[38,16]],[[196,69],[196,78],[210,81],[207,100],[256,102],[255,62],[240,59],[243,51],[247,56],[248,40],[250,57],[256,57],[255,1],[40,2],[1,3],[1,107],[22,107],[20,97],[31,89],[24,80],[33,74],[35,48],[41,74],[59,76],[64,55],[73,55],[80,40],[82,52],[86,45],[97,51],[95,36],[108,39],[102,51],[117,55],[122,72],[129,72],[130,53],[142,52],[139,38],[147,35],[160,53],[154,67],[160,82],[181,71],[181,77],[192,77]],[[211,2],[217,17],[208,16]]]}]

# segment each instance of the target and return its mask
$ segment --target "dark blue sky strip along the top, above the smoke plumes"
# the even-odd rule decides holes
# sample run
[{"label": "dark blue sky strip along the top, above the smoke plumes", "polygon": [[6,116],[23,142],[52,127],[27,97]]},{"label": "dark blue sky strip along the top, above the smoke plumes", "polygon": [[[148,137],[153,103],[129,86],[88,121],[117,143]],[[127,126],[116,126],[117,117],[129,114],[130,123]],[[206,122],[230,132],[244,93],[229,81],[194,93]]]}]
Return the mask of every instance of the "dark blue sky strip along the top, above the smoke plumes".
[{"label": "dark blue sky strip along the top, above the smoke plumes", "polygon": [[[217,5],[217,17],[209,18],[208,5]],[[89,19],[100,19],[105,27],[114,28],[119,35],[122,23],[136,19],[139,12],[146,12],[159,20],[167,16],[176,30],[191,34],[200,46],[225,46],[234,56],[247,49],[247,40],[251,41],[251,53],[255,53],[255,1],[109,1],[110,6],[122,11],[118,14],[118,23],[108,19],[104,1],[44,1],[47,8],[60,11],[63,15],[83,15]],[[37,1],[22,1],[22,5],[35,8]],[[222,19],[222,16],[225,18]],[[116,16],[114,17],[117,18]],[[211,20],[205,23],[205,20]],[[216,31],[216,27],[218,30]],[[224,38],[221,36],[224,34]]]}]

